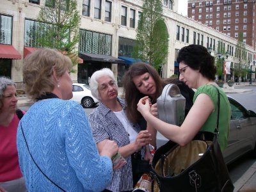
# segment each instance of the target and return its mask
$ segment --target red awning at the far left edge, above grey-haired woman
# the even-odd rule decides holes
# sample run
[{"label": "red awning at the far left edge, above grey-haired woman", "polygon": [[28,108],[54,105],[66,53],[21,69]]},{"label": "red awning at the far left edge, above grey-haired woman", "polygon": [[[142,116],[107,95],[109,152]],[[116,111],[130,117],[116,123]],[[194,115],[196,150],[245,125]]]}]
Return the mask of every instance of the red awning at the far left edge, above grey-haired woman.
[{"label": "red awning at the far left edge, above grey-haired woman", "polygon": [[0,58],[20,60],[21,54],[12,45],[0,45]]}]

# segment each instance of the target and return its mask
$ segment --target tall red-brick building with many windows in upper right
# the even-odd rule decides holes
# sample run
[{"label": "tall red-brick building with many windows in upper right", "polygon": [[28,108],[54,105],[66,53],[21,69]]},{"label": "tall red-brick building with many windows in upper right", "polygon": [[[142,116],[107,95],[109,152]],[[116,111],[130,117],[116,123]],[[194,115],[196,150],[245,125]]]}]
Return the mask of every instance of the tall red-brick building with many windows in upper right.
[{"label": "tall red-brick building with many windows in upper right", "polygon": [[188,17],[255,49],[255,0],[188,0]]}]

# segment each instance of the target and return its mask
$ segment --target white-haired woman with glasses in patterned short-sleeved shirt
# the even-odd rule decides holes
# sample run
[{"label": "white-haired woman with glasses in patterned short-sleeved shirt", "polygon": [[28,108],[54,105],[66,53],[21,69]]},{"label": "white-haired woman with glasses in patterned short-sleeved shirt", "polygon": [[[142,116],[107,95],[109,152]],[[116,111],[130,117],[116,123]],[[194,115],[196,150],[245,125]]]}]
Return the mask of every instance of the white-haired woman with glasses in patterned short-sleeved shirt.
[{"label": "white-haired woman with glasses in patterned short-sleeved shirt", "polygon": [[131,159],[152,159],[149,148],[145,150],[145,145],[151,140],[150,134],[147,130],[140,131],[138,124],[132,124],[127,119],[124,100],[118,98],[118,86],[109,68],[93,73],[90,88],[93,97],[100,100],[99,107],[89,115],[99,152],[106,140],[114,140],[119,147],[118,153],[127,161],[122,168],[114,171],[111,184],[104,191],[132,191],[134,182],[141,175],[132,175]]}]

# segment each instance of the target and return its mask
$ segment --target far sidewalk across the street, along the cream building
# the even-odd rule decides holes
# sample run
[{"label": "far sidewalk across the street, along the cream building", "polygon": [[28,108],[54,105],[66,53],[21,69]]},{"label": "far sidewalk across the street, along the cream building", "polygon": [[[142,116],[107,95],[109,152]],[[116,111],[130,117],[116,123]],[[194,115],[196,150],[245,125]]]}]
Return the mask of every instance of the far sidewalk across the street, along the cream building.
[{"label": "far sidewalk across the street, along the cream building", "polygon": [[[241,82],[240,84],[234,83],[234,86],[228,86],[227,83],[223,85],[223,91],[225,93],[244,93],[251,92],[250,86],[256,86],[256,82],[249,84],[249,82]],[[118,87],[118,95],[122,97],[123,88]],[[32,102],[26,97],[26,94],[20,94],[18,97],[18,107],[31,106]]]}]

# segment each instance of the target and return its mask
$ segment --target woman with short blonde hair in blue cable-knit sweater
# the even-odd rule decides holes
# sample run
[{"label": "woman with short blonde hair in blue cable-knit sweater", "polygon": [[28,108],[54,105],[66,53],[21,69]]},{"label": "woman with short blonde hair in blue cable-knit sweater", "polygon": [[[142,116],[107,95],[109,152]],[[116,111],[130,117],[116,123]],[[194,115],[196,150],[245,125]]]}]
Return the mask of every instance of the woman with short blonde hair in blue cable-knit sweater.
[{"label": "woman with short blonde hair in blue cable-knit sweater", "polygon": [[42,48],[23,66],[25,91],[36,101],[17,133],[19,163],[29,191],[102,191],[111,182],[111,157],[118,152],[106,141],[100,153],[84,109],[72,98],[71,60]]}]

